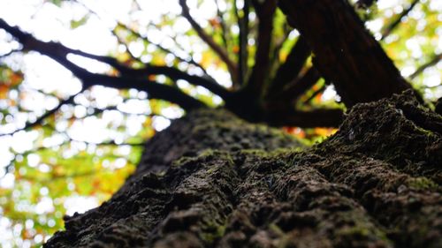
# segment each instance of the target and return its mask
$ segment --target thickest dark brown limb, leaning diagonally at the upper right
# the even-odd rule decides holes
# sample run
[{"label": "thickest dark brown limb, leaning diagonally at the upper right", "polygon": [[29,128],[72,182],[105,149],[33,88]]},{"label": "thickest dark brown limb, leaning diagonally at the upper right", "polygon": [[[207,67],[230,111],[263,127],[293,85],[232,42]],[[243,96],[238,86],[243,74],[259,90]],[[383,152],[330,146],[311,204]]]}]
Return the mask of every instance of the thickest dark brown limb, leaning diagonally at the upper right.
[{"label": "thickest dark brown limb, leaning diagonally at the upper right", "polygon": [[289,22],[314,53],[314,64],[347,106],[411,88],[346,0],[281,0]]}]

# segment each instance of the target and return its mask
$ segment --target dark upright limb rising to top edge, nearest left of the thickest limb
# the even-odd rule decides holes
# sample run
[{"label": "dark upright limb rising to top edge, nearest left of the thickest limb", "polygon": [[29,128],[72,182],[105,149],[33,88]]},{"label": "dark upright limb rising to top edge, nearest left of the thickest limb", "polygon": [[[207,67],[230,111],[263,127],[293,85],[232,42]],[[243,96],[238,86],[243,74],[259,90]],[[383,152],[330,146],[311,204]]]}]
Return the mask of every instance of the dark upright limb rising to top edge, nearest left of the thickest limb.
[{"label": "dark upright limb rising to top edge, nearest left of the thickest limb", "polygon": [[255,53],[255,65],[252,69],[246,91],[260,98],[264,93],[265,79],[269,75],[271,34],[273,32],[273,17],[277,8],[276,0],[265,0],[260,3],[252,1],[258,18],[258,37]]}]

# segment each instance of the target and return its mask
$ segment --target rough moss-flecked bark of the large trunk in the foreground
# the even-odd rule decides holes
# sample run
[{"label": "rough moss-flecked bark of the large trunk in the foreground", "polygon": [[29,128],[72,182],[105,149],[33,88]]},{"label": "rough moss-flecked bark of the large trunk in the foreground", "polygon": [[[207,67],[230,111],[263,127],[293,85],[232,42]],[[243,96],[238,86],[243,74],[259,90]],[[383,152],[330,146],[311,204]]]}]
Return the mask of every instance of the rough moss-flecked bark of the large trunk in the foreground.
[{"label": "rough moss-flecked bark of the large trunk in the foreground", "polygon": [[112,199],[46,247],[442,247],[442,117],[411,94],[355,106],[303,148],[225,110],[149,141]]}]

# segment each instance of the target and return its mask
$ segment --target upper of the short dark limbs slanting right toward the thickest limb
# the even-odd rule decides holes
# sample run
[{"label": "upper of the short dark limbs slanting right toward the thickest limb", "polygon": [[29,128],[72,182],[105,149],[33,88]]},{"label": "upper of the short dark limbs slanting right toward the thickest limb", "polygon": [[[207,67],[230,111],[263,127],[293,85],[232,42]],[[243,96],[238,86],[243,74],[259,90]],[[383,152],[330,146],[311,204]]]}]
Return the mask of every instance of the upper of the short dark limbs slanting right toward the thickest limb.
[{"label": "upper of the short dark limbs slanting right toward the thickest limb", "polygon": [[286,84],[296,79],[302,69],[302,65],[304,65],[307,58],[309,58],[310,53],[309,45],[304,38],[300,36],[288,54],[286,62],[279,66],[275,78],[271,82],[269,94],[281,91]]}]

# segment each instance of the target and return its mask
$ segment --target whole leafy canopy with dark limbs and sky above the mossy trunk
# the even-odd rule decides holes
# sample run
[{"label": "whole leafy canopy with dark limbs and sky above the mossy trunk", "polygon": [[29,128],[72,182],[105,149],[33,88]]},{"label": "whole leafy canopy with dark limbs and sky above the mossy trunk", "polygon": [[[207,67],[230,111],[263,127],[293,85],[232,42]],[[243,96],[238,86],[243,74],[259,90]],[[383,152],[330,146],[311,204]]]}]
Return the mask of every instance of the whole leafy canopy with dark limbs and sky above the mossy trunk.
[{"label": "whole leafy canopy with dark limbs and sky above the mossy trunk", "polygon": [[[0,11],[4,245],[41,244],[64,214],[108,199],[144,142],[188,110],[225,107],[311,143],[347,108],[396,86],[429,105],[442,96],[435,0],[360,0],[344,17],[312,4],[332,20],[322,30],[288,1],[10,2],[21,5]],[[330,29],[341,18],[370,33]],[[388,76],[369,73],[385,67],[375,57]],[[354,74],[329,70],[337,61]],[[377,79],[387,80],[370,85]]]}]

